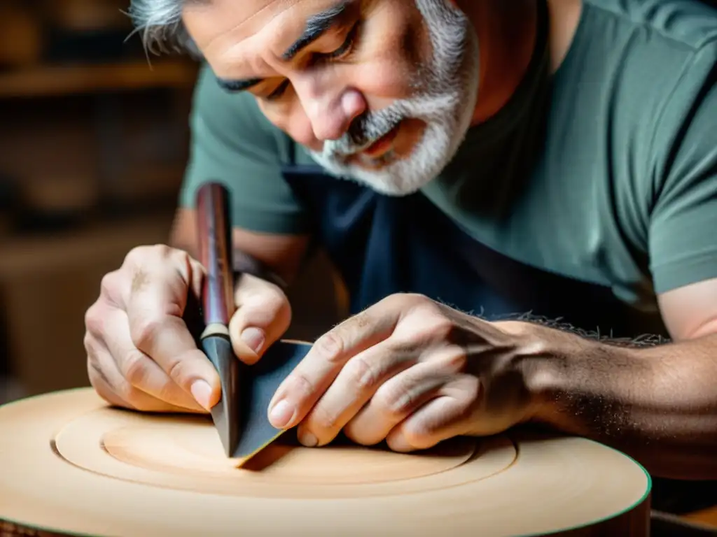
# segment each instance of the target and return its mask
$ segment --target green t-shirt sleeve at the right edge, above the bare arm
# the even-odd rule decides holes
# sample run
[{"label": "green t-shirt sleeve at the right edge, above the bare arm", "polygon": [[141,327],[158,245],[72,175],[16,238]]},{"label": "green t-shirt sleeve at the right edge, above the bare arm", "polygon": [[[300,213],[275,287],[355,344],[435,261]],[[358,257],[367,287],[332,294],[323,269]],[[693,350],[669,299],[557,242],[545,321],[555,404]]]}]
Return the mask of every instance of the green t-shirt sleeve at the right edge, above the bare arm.
[{"label": "green t-shirt sleeve at the right edge, above the bare arm", "polygon": [[685,78],[676,93],[691,99],[678,105],[673,96],[664,118],[683,116],[672,122],[679,128],[663,146],[669,150],[661,157],[650,217],[650,269],[658,294],[717,278],[717,45],[695,53],[691,69],[704,76]]}]

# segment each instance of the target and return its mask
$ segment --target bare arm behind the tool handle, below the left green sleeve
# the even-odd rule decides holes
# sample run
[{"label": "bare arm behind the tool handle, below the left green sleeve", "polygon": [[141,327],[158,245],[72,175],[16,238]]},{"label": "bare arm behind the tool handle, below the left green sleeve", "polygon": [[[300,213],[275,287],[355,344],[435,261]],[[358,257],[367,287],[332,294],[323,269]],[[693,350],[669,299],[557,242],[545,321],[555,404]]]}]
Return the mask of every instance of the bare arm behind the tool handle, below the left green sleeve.
[{"label": "bare arm behind the tool handle, below the left green sleeve", "polygon": [[[196,238],[196,214],[191,209],[180,208],[172,226],[170,245],[198,258]],[[306,250],[308,236],[272,235],[234,228],[234,248],[247,253],[274,271],[290,284],[298,273]]]}]

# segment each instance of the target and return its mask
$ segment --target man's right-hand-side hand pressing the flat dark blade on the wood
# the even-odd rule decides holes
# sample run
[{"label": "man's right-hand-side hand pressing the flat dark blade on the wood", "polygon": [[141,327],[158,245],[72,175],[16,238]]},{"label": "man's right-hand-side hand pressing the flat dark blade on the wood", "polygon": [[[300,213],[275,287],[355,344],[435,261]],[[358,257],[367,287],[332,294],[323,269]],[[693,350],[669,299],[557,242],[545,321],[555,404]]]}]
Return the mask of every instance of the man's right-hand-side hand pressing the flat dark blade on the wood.
[{"label": "man's right-hand-side hand pressing the flat dark blade on the wood", "polygon": [[431,448],[529,420],[527,344],[498,325],[399,294],[320,337],[270,403],[275,427],[308,446],[343,430],[362,445]]}]

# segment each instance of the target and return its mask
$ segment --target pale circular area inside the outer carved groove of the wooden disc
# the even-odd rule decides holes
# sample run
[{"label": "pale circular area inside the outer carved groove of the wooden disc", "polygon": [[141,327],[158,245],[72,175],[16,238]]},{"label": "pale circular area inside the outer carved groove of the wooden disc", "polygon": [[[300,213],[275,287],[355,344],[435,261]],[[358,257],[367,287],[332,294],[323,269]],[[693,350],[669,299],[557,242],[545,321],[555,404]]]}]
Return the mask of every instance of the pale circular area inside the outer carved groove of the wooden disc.
[{"label": "pale circular area inside the outer carved groove of the wooden disc", "polygon": [[[79,468],[107,477],[200,493],[321,498],[386,495],[445,488],[508,468],[516,448],[505,437],[458,438],[422,453],[328,445],[270,445],[247,465],[228,459],[211,420],[157,417],[103,408],[62,427],[57,453]],[[478,460],[446,480],[448,470]],[[261,471],[258,471],[261,470]],[[440,479],[431,479],[441,475]]]}]

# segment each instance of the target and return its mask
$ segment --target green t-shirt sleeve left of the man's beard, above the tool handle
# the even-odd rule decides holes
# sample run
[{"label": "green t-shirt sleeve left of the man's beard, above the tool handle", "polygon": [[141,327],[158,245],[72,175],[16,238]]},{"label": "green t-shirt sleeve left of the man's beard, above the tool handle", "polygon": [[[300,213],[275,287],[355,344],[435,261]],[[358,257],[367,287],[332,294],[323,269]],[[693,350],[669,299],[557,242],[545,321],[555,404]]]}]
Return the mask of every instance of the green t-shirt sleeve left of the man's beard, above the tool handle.
[{"label": "green t-shirt sleeve left of the man's beard, above the tool handle", "polygon": [[271,125],[252,95],[226,92],[205,64],[189,121],[191,142],[181,206],[193,208],[196,191],[212,180],[231,193],[234,226],[261,233],[307,231],[303,208],[281,173],[293,142]]}]

